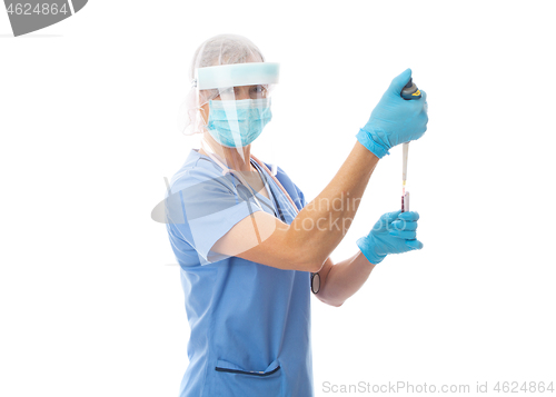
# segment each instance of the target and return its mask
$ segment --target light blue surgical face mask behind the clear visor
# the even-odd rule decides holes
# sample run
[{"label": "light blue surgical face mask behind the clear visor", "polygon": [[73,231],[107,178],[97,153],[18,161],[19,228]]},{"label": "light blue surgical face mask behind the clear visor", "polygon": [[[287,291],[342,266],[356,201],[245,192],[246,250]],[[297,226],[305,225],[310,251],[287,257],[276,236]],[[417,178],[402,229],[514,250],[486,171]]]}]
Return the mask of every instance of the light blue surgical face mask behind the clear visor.
[{"label": "light blue surgical face mask behind the clear visor", "polygon": [[208,131],[228,148],[250,145],[272,119],[270,99],[210,100]]}]

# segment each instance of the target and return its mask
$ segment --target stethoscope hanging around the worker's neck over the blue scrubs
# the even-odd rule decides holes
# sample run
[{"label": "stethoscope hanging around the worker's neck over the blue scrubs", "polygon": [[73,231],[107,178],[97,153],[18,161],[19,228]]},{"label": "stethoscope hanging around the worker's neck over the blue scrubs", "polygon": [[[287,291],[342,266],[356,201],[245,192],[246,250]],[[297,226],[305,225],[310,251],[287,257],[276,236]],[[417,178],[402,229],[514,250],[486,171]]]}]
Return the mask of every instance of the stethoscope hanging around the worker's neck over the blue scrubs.
[{"label": "stethoscope hanging around the worker's neck over the blue scrubs", "polygon": [[[251,208],[250,208],[249,197],[252,197],[255,199],[255,201],[257,202],[257,205],[259,206],[259,208],[262,209],[260,201],[257,199],[257,196],[256,196],[257,192],[245,180],[245,178],[241,176],[241,173],[237,172],[235,169],[231,169],[231,168],[225,166],[224,161],[218,157],[218,155],[215,153],[215,151],[212,150],[212,148],[210,147],[210,145],[208,142],[206,142],[205,140],[201,140],[201,147],[202,147],[202,150],[208,155],[208,157],[217,166],[219,166],[221,168],[222,176],[226,176],[227,173],[230,173],[232,177],[235,177],[239,181],[240,185],[237,186],[236,188],[238,189],[238,193],[239,193],[239,191],[240,191],[239,187],[240,186],[242,187],[241,199],[245,199],[246,202],[247,202],[247,205],[249,206],[249,212],[252,214]],[[286,222],[286,218],[284,217],[284,212],[281,210],[281,207],[280,207],[278,200],[276,199],[275,195],[272,193],[272,190],[270,189],[270,185],[268,183],[268,180],[267,180],[267,176],[265,175],[265,172],[262,172],[262,169],[265,169],[265,170],[267,170],[269,172],[269,175],[271,176],[271,178],[274,179],[274,181],[276,182],[276,185],[284,191],[284,193],[286,195],[286,197],[291,202],[291,206],[294,207],[295,212],[298,214],[299,210],[295,206],[294,200],[291,200],[291,198],[289,197],[289,195],[286,191],[286,189],[284,189],[284,187],[281,186],[280,181],[275,177],[275,175],[276,175],[275,167],[272,167],[274,172],[270,172],[268,170],[268,168],[265,165],[262,165],[260,161],[258,161],[255,156],[251,156],[250,160],[252,161],[251,163],[257,169],[257,172],[259,172],[259,176],[261,177],[261,179],[264,179],[265,188],[268,191],[268,196],[271,197],[272,202],[276,206],[276,210],[274,208],[271,208],[270,206],[268,206],[267,204],[265,204],[265,202],[264,202],[264,205],[267,208],[271,209],[275,212],[275,216],[276,216],[276,212],[278,211],[278,215],[280,216],[281,221],[285,222],[285,224],[287,224]],[[247,192],[244,189],[247,189]],[[255,220],[254,220],[254,227],[257,228],[257,226],[255,225]],[[259,238],[258,234],[257,234],[257,238],[259,239],[259,244],[260,244],[261,241],[260,241],[260,238]],[[312,294],[317,294],[319,291],[319,289],[320,289],[320,275],[318,272],[311,272],[310,286],[311,286]]]}]

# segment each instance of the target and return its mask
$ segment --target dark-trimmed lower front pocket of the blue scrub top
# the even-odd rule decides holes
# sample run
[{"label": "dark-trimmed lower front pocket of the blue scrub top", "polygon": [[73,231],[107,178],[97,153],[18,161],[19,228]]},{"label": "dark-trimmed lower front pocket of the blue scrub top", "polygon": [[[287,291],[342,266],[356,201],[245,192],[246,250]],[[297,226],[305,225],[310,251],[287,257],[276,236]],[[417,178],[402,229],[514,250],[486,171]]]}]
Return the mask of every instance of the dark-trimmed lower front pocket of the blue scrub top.
[{"label": "dark-trimmed lower front pocket of the blue scrub top", "polygon": [[226,361],[217,360],[215,367],[215,396],[229,397],[281,397],[281,368],[274,360],[267,368],[248,369]]}]

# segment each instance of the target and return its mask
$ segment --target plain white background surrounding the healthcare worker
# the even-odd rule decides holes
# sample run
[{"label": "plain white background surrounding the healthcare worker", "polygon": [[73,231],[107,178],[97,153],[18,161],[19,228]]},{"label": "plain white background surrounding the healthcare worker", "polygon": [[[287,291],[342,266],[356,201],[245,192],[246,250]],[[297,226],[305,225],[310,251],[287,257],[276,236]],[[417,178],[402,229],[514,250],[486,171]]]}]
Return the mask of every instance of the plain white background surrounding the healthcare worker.
[{"label": "plain white background surrounding the healthcare worker", "polygon": [[[187,156],[192,52],[228,32],[281,63],[254,153],[309,200],[391,78],[410,67],[428,95],[408,170],[425,248],[340,308],[311,298],[316,396],[324,381],[556,381],[552,4],[90,1],[20,38],[0,12],[0,395],[177,396],[189,327],[150,211]],[[335,260],[399,207],[400,151]]]}]

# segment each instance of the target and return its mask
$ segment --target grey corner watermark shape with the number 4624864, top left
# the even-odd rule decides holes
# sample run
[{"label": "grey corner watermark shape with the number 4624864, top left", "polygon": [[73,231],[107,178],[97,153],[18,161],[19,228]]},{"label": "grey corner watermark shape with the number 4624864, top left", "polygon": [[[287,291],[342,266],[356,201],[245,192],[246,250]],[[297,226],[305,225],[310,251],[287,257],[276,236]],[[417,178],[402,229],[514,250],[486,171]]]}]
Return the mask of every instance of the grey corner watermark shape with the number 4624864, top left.
[{"label": "grey corner watermark shape with the number 4624864, top left", "polygon": [[4,0],[13,36],[27,34],[70,18],[88,0]]}]

